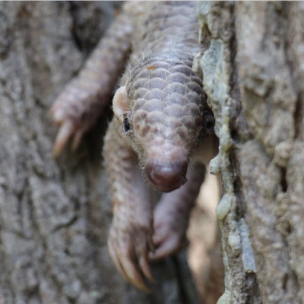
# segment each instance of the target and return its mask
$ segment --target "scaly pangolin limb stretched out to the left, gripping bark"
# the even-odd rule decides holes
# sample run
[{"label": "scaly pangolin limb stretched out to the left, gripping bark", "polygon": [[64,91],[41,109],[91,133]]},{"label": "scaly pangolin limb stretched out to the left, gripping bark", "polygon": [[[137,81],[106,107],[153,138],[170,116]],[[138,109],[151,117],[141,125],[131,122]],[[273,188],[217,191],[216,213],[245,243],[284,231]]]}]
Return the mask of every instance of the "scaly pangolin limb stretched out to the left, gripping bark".
[{"label": "scaly pangolin limb stretched out to the left, gripping bark", "polygon": [[96,122],[113,92],[128,58],[133,26],[128,14],[122,13],[87,60],[79,75],[71,80],[51,108],[59,125],[54,144],[57,156],[72,138],[77,148],[83,134]]}]

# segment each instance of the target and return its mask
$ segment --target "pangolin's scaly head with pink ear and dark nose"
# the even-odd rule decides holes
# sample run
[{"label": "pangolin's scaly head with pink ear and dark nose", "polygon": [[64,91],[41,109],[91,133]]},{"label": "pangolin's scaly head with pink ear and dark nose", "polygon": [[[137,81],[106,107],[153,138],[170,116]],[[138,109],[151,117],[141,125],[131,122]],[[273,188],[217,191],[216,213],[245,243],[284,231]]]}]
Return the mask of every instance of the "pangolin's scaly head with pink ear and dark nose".
[{"label": "pangolin's scaly head with pink ear and dark nose", "polygon": [[115,115],[137,152],[144,176],[161,192],[186,182],[189,158],[206,132],[202,82],[184,61],[141,62],[113,100]]}]

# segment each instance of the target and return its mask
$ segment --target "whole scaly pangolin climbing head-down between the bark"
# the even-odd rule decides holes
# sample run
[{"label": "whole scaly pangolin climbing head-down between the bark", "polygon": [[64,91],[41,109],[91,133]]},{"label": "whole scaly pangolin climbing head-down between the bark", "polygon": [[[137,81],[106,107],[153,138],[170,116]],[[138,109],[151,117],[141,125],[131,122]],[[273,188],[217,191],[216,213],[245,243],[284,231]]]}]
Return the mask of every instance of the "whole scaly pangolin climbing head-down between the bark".
[{"label": "whole scaly pangolin climbing head-down between the bark", "polygon": [[[113,98],[103,156],[113,204],[110,255],[122,276],[145,290],[148,257],[182,245],[204,166],[190,159],[213,117],[192,63],[199,50],[195,1],[130,1],[56,100],[59,153],[76,146]],[[152,189],[168,192],[153,210]]]}]

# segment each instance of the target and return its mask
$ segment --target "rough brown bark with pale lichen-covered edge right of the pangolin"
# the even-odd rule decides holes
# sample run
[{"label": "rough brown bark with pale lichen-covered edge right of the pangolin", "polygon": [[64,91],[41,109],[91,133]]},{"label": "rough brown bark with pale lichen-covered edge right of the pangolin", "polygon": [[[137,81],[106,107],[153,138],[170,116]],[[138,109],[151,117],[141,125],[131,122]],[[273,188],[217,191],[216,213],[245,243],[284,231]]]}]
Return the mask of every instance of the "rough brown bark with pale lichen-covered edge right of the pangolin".
[{"label": "rough brown bark with pale lichen-covered edge right of the pangolin", "polygon": [[303,2],[201,2],[224,195],[218,304],[304,301]]}]

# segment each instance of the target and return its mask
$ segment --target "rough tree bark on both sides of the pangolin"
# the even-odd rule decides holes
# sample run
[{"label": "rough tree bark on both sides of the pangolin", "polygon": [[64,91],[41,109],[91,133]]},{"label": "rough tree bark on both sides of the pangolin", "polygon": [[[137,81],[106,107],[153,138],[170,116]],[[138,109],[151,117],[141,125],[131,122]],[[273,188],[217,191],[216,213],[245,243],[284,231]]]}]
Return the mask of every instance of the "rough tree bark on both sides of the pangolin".
[{"label": "rough tree bark on both sides of the pangolin", "polygon": [[[113,5],[0,2],[1,304],[196,303],[183,254],[153,264],[151,295],[125,284],[110,261],[100,166],[109,118],[79,151],[51,154],[48,109]],[[211,168],[224,190],[218,304],[304,301],[303,15],[302,2],[199,3],[197,66],[220,138]]]}]

